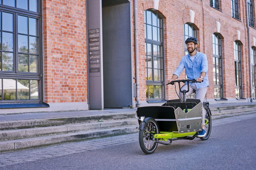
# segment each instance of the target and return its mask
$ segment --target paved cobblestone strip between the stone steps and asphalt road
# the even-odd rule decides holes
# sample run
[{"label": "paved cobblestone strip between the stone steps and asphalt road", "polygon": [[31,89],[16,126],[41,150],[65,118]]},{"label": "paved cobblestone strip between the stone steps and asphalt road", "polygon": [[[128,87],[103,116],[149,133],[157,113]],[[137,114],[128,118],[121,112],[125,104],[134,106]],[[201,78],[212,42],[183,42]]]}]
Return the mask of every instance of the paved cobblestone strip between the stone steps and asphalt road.
[{"label": "paved cobblestone strip between the stone steps and asphalt road", "polygon": [[[248,115],[240,115],[235,117],[217,119],[212,121],[212,126],[233,123],[247,119],[255,119],[256,113]],[[0,169],[1,167],[16,165],[26,162],[43,160],[75,153],[88,152],[90,150],[113,147],[138,141],[138,133],[105,137],[100,139],[92,139],[80,142],[65,143],[61,145],[53,145],[36,149],[20,150],[10,153],[0,154]]]}]

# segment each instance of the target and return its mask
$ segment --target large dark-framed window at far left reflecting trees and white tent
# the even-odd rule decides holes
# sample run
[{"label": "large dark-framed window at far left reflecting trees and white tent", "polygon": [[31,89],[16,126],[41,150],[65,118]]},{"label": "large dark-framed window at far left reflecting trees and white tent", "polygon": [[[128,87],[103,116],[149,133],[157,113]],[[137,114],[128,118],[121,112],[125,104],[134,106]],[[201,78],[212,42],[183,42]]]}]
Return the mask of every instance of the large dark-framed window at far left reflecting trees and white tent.
[{"label": "large dark-framed window at far left reflecting trees and white tent", "polygon": [[0,103],[43,101],[40,4],[0,0]]}]

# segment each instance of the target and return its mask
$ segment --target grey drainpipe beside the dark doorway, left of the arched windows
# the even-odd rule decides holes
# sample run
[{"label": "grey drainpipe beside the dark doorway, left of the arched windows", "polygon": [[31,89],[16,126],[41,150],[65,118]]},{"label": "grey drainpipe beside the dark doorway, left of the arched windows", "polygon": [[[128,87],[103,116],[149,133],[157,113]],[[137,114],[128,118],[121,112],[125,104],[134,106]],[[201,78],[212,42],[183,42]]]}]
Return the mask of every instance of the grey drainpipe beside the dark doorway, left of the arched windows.
[{"label": "grey drainpipe beside the dark doorway, left of the arched windows", "polygon": [[134,3],[134,47],[135,47],[135,82],[136,82],[136,107],[140,107],[140,76],[139,76],[139,38],[138,38],[138,2],[137,0],[133,1]]}]

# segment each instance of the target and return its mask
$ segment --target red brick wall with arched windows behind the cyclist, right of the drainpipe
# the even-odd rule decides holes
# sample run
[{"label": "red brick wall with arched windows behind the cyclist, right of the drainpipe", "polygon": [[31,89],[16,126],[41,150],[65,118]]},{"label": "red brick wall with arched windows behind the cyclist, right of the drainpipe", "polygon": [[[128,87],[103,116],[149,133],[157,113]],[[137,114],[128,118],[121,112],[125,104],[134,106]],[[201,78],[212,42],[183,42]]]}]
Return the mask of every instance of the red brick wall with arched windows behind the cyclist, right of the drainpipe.
[{"label": "red brick wall with arched windows behind the cyclist, right of the drainpipe", "polygon": [[[255,3],[255,1],[254,1]],[[231,16],[230,0],[221,0],[220,10],[210,6],[210,1],[197,0],[159,0],[159,8],[155,12],[160,14],[164,21],[164,47],[165,47],[165,81],[171,78],[172,73],[184,55],[184,24],[190,22],[189,10],[195,12],[193,26],[197,28],[200,52],[207,55],[209,88],[207,99],[214,99],[213,84],[213,61],[212,61],[212,34],[220,35],[222,39],[222,62],[223,62],[223,90],[224,98],[235,98],[235,65],[233,42],[238,40],[237,30],[240,31],[241,64],[243,97],[250,97],[249,81],[249,49],[248,29],[246,26],[246,0],[239,1],[239,20]],[[144,10],[154,8],[153,0],[138,0],[139,15],[139,58],[140,58],[140,92],[141,100],[146,100],[146,73],[144,59]],[[255,9],[254,9],[255,15]],[[255,20],[255,19],[254,19]],[[217,23],[221,24],[220,32],[217,32]],[[252,37],[256,37],[256,29],[250,27],[250,42],[253,45]],[[185,72],[185,71],[184,71]],[[180,76],[184,78],[185,74]],[[165,89],[166,99],[176,98],[173,86]]]}]

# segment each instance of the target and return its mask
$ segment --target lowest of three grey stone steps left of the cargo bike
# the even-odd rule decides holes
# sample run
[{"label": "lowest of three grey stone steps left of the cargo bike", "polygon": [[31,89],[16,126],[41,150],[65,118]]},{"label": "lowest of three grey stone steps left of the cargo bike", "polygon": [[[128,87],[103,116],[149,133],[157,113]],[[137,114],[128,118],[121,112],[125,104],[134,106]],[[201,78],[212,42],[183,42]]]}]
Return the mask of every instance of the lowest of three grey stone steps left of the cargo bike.
[{"label": "lowest of three grey stone steps left of the cargo bike", "polygon": [[67,134],[58,134],[51,136],[42,136],[26,139],[16,139],[0,142],[0,152],[14,151],[25,148],[41,147],[52,144],[60,144],[64,142],[72,142],[79,140],[86,140],[92,138],[101,138],[112,135],[121,135],[126,133],[138,132],[138,126],[128,126],[121,128],[110,128],[110,129],[100,129],[91,130],[86,132],[75,132]]}]

